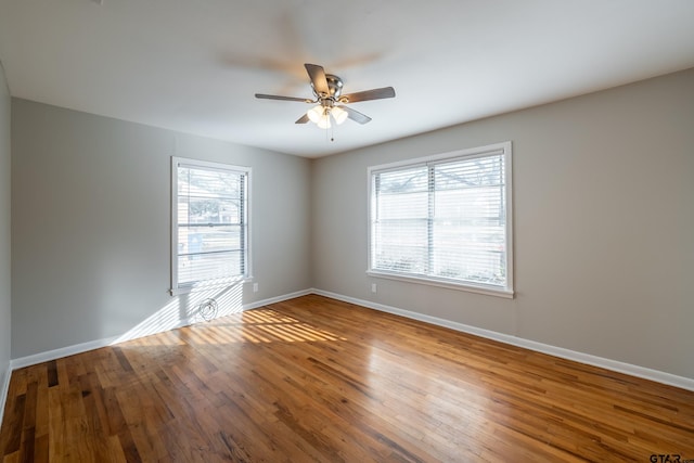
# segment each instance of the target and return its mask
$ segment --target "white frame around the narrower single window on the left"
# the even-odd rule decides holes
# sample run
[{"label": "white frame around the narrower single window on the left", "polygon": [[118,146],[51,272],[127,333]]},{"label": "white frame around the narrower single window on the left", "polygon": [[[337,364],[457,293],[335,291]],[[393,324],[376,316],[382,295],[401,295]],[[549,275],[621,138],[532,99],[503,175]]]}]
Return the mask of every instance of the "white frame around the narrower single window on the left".
[{"label": "white frame around the narrower single window on the left", "polygon": [[[200,169],[209,169],[209,170],[221,170],[229,171],[235,173],[243,173],[245,176],[244,181],[244,190],[243,190],[243,221],[241,223],[244,233],[243,233],[243,255],[244,255],[244,270],[245,273],[242,275],[222,278],[222,279],[214,279],[214,280],[202,280],[193,283],[183,283],[181,284],[178,279],[178,234],[179,234],[179,221],[178,221],[178,205],[179,205],[179,195],[178,195],[178,167],[187,166],[192,168]],[[214,287],[226,287],[237,283],[246,283],[253,281],[253,259],[250,254],[250,179],[252,177],[252,168],[245,166],[237,166],[226,163],[215,163],[209,160],[200,160],[187,157],[178,157],[171,156],[171,204],[170,204],[170,213],[171,213],[171,288],[169,290],[172,296],[179,294],[187,294],[195,291],[204,291]]]}]

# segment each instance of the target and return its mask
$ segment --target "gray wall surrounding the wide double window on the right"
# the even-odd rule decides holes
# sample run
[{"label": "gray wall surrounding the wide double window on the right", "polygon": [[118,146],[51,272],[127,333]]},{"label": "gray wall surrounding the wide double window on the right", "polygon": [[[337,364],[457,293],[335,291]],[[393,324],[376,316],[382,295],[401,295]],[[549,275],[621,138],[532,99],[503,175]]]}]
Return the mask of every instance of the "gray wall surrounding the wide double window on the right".
[{"label": "gray wall surrounding the wide double window on the right", "polygon": [[[514,299],[365,274],[368,166],[506,140]],[[690,69],[318,159],[313,285],[694,378],[693,146]]]}]

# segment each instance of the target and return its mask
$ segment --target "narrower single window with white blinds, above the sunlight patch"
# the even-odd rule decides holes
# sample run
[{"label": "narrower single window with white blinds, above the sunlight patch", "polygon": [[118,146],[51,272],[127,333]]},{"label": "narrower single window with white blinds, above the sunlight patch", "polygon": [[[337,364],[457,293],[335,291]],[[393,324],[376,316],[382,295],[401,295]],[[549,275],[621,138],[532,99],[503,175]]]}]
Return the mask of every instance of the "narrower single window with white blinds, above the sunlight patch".
[{"label": "narrower single window with white blinds, above the sunlight patch", "polygon": [[250,169],[171,162],[171,292],[248,278]]}]

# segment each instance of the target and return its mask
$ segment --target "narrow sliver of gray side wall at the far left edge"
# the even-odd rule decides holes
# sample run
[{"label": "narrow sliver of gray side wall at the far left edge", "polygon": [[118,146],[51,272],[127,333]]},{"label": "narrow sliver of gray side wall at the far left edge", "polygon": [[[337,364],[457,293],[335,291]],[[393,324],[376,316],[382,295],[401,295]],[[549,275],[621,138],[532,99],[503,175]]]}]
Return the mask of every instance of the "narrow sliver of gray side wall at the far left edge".
[{"label": "narrow sliver of gray side wall at the far left edge", "polygon": [[[10,369],[12,342],[10,237],[10,90],[0,63],[0,407],[3,407],[2,387]],[[0,410],[0,419],[2,410]]]}]

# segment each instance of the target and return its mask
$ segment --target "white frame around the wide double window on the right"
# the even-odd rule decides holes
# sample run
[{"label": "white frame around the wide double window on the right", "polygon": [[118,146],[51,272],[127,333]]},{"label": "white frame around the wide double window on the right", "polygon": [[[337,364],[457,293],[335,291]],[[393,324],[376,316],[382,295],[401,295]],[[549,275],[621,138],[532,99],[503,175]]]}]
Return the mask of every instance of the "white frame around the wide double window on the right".
[{"label": "white frame around the wide double window on the right", "polygon": [[[424,275],[420,273],[407,273],[398,271],[388,271],[383,269],[374,269],[372,261],[373,235],[373,200],[374,200],[374,175],[380,172],[395,171],[398,169],[413,168],[417,166],[428,166],[432,164],[440,164],[455,159],[470,159],[475,157],[492,156],[502,154],[504,167],[504,201],[505,201],[505,267],[506,267],[506,284],[504,287],[489,285],[484,283],[472,283],[441,276]],[[486,294],[505,298],[514,297],[514,262],[513,262],[513,154],[511,141],[494,143],[485,146],[458,150],[453,152],[440,153],[424,157],[406,159],[377,166],[370,166],[367,169],[368,182],[368,220],[367,220],[367,274],[374,278],[404,281],[410,283],[426,284],[430,286],[446,287],[450,290],[465,291],[471,293]]]}]

